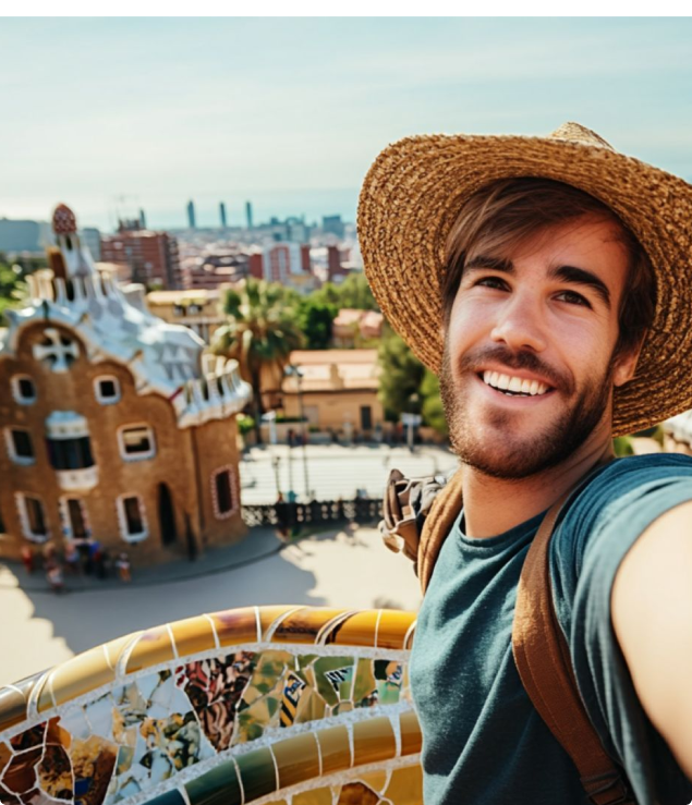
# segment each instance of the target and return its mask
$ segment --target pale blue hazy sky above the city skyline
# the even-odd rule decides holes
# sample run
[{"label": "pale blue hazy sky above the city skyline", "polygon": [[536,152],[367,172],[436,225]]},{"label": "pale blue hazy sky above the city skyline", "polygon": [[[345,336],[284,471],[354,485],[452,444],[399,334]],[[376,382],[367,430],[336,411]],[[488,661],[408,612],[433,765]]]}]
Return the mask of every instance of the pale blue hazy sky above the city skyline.
[{"label": "pale blue hazy sky above the city skyline", "polygon": [[[691,17],[2,17],[0,217],[353,218],[377,153],[567,120],[692,180]],[[120,200],[119,200],[120,199]],[[332,207],[327,209],[325,207]]]}]

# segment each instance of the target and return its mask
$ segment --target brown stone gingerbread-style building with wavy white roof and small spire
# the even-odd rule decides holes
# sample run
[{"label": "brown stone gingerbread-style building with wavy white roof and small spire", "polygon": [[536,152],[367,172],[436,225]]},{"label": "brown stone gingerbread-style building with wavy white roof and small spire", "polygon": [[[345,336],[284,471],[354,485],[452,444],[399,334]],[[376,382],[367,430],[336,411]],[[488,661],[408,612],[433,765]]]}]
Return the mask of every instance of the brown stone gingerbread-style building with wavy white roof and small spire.
[{"label": "brown stone gingerbread-style building with wavy white roof and small spire", "polygon": [[69,207],[53,231],[0,330],[0,556],[74,539],[150,563],[241,538],[236,362],[101,277]]}]

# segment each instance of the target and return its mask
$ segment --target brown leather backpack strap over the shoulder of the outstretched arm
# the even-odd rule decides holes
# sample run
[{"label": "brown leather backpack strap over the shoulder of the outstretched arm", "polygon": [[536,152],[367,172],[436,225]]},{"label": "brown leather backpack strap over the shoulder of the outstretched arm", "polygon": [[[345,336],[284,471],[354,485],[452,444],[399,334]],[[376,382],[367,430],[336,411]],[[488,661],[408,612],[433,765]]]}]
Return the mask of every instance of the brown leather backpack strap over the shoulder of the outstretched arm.
[{"label": "brown leather backpack strap over the shoulder of the outstretched arm", "polygon": [[633,803],[586,713],[555,613],[548,546],[569,495],[548,510],[526,554],[512,630],[514,661],[536,710],[576,766],[590,800],[596,805]]}]

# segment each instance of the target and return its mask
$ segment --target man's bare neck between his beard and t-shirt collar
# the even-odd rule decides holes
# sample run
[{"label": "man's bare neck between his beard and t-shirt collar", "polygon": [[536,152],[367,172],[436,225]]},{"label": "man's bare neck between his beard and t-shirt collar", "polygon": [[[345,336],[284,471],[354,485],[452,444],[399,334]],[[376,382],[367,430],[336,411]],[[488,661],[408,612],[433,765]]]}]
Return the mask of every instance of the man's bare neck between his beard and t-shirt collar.
[{"label": "man's bare neck between his beard and t-shirt collar", "polygon": [[560,464],[525,478],[494,478],[471,466],[463,467],[462,495],[465,533],[495,537],[548,509],[596,463],[612,456],[612,436],[592,435]]}]

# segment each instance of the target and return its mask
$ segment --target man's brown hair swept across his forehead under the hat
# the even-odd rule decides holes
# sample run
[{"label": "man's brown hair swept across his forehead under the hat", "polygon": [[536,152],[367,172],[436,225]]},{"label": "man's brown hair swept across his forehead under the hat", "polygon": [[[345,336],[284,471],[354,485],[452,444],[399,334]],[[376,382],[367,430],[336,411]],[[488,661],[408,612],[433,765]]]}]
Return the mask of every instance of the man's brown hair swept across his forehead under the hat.
[{"label": "man's brown hair swept across his forehead under the hat", "polygon": [[654,318],[656,282],[648,255],[630,229],[603,202],[553,179],[520,176],[493,182],[463,205],[447,239],[447,269],[441,279],[442,315],[449,322],[468,259],[518,246],[530,235],[583,215],[617,224],[630,257],[629,277],[620,300],[620,334],[615,354],[635,347]]}]

